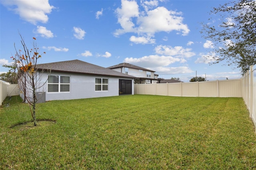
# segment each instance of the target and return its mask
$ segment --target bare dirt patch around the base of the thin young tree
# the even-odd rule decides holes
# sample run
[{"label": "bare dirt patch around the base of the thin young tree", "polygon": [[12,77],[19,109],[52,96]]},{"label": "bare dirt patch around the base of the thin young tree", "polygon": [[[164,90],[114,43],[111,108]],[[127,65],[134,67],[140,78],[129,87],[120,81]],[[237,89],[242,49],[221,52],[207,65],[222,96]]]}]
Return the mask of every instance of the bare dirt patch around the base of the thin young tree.
[{"label": "bare dirt patch around the base of the thin young tree", "polygon": [[11,126],[10,128],[13,128],[16,130],[28,130],[28,129],[41,128],[41,127],[54,125],[55,123],[56,123],[55,120],[43,119],[43,120],[37,120],[36,126],[34,126],[34,122],[31,121],[31,122],[18,123],[16,125]]}]

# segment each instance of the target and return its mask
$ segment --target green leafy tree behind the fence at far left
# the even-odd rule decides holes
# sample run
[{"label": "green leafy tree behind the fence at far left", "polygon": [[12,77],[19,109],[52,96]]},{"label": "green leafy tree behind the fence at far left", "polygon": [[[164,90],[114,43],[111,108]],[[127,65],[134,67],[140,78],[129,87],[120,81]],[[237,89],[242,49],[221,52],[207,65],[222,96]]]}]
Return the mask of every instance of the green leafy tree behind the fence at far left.
[{"label": "green leafy tree behind the fence at far left", "polygon": [[15,63],[12,63],[12,65],[4,64],[3,67],[9,68],[9,71],[7,73],[0,74],[0,79],[3,81],[6,81],[11,84],[17,84],[17,73],[16,73],[16,65]]}]

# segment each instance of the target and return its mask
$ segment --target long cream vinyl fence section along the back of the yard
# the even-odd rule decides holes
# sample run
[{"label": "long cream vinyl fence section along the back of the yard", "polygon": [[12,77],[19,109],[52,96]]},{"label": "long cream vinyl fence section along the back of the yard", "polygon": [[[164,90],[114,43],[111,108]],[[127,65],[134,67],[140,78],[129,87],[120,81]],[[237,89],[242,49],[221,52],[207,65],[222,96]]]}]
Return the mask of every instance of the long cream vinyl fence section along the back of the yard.
[{"label": "long cream vinyl fence section along the back of the yard", "polygon": [[241,79],[135,84],[134,94],[179,97],[242,97]]}]

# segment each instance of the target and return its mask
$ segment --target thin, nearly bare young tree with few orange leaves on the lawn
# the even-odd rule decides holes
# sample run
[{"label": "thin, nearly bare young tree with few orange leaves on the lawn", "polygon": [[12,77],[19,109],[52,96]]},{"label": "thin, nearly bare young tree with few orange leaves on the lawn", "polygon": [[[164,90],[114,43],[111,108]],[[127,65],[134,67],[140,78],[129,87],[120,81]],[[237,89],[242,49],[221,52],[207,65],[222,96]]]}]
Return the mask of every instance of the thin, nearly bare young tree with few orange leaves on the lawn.
[{"label": "thin, nearly bare young tree with few orange leaves on the lawn", "polygon": [[38,101],[36,98],[36,90],[41,88],[46,82],[41,83],[40,77],[37,74],[36,65],[41,55],[39,54],[39,48],[35,42],[36,38],[33,38],[32,49],[27,48],[21,34],[20,38],[23,49],[17,50],[14,43],[16,54],[11,58],[14,60],[14,65],[18,68],[18,85],[24,94],[24,102],[26,101],[29,104],[34,126],[36,126],[36,102]]}]

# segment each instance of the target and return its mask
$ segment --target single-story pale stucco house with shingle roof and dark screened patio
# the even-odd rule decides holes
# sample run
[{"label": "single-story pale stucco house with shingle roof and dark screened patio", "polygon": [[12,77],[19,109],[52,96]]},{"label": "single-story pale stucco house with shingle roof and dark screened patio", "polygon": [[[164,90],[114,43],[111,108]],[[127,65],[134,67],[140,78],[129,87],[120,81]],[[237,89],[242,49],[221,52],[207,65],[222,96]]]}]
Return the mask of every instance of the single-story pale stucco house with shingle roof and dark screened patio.
[{"label": "single-story pale stucco house with shingle roof and dark screened patio", "polygon": [[71,60],[36,67],[36,81],[42,85],[37,93],[45,101],[134,95],[134,76],[98,65]]}]

